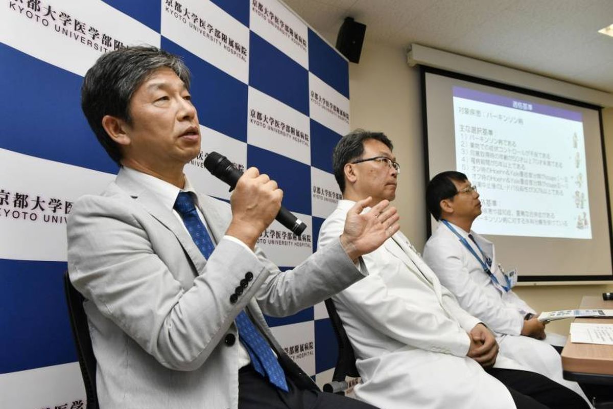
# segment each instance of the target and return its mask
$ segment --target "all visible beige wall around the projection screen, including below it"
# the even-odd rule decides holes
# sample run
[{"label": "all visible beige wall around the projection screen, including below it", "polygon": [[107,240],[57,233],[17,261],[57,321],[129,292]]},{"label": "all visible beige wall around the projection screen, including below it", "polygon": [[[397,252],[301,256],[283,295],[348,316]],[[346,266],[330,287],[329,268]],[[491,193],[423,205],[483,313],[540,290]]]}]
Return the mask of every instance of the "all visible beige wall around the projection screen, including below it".
[{"label": "all visible beige wall around the projection screen, including below it", "polygon": [[[426,240],[424,143],[419,69],[406,64],[402,48],[366,41],[359,64],[349,63],[351,128],[382,131],[394,142],[401,172],[394,205],[401,229],[418,250]],[[604,110],[609,186],[613,182],[613,108]],[[609,187],[609,190],[613,190]],[[503,261],[504,262],[504,261]],[[511,261],[508,261],[512,264]],[[538,311],[578,307],[584,295],[600,296],[613,285],[520,287],[517,293]],[[569,320],[549,324],[568,334]]]}]

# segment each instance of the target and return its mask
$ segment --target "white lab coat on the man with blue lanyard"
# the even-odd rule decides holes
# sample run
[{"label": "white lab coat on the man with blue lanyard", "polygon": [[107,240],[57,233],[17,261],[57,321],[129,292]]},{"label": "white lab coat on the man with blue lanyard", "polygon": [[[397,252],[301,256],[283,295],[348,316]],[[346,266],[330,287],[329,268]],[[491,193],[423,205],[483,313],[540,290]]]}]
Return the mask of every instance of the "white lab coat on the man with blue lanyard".
[{"label": "white lab coat on the man with blue lanyard", "polygon": [[[452,226],[466,239],[475,253],[481,256],[479,248],[469,239],[468,232],[454,224]],[[493,243],[474,231],[470,234],[492,259],[491,270],[498,283],[506,285]],[[501,286],[493,283],[481,263],[443,223],[438,224],[436,231],[428,239],[424,248],[424,261],[436,273],[441,283],[455,295],[466,312],[479,318],[497,334],[499,354],[572,389],[587,400],[576,382],[563,379],[562,359],[554,348],[547,342],[520,335],[524,316],[527,313],[536,313],[535,310],[512,290],[504,291]],[[552,335],[548,337],[560,338],[560,335]]]}]

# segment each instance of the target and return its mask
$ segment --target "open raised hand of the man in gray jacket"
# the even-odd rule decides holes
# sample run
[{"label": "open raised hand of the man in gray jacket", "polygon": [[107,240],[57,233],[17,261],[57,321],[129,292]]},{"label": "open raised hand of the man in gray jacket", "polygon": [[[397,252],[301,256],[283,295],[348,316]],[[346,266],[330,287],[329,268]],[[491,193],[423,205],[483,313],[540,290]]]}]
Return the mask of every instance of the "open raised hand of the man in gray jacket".
[{"label": "open raised hand of the man in gray jacket", "polygon": [[395,207],[389,206],[389,201],[381,201],[369,212],[360,214],[371,201],[372,198],[369,196],[357,202],[347,212],[345,229],[340,240],[349,258],[354,261],[376,250],[400,229],[398,224],[400,216]]}]

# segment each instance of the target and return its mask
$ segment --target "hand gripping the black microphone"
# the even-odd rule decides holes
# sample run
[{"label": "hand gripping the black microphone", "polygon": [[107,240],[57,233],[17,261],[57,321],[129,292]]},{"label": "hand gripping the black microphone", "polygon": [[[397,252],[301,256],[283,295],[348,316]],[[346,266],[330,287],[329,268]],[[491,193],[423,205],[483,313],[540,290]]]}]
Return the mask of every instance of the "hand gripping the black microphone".
[{"label": "hand gripping the black microphone", "polygon": [[238,179],[230,197],[232,221],[226,234],[253,249],[260,234],[275,220],[281,208],[283,191],[268,175],[249,167]]}]

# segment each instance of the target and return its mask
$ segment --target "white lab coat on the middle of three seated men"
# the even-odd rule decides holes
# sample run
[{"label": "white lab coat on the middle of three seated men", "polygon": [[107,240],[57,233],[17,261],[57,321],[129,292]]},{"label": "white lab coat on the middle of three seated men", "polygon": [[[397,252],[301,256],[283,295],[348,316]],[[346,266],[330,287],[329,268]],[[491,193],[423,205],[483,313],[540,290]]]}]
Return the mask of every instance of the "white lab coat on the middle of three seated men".
[{"label": "white lab coat on the middle of three seated men", "polygon": [[[340,201],[319,232],[326,247],[354,202]],[[363,256],[368,277],[333,297],[356,353],[358,399],[382,409],[514,408],[508,389],[466,357],[466,313],[398,232]],[[497,367],[525,369],[498,357]]]}]

